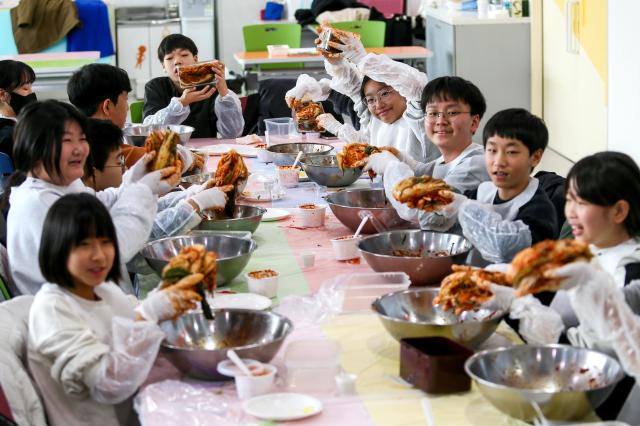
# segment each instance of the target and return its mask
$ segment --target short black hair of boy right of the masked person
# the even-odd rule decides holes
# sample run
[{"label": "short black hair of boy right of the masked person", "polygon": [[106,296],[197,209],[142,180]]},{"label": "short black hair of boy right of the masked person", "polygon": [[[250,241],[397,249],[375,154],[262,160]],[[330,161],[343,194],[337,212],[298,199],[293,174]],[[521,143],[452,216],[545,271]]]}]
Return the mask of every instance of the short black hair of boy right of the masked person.
[{"label": "short black hair of boy right of the masked person", "polygon": [[74,72],[67,83],[67,95],[73,105],[91,117],[105,99],[118,103],[122,92],[131,91],[129,75],[109,64],[89,64]]}]

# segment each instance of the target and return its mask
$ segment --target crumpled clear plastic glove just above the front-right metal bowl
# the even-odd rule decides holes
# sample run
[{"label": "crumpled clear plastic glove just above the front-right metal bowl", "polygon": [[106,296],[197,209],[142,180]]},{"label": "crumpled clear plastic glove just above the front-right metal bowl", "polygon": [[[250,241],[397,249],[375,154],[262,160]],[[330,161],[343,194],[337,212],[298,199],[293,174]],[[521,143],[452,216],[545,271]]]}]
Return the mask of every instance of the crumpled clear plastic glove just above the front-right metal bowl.
[{"label": "crumpled clear plastic glove just above the front-right metal bowl", "polygon": [[560,314],[530,294],[511,302],[509,317],[520,320],[518,332],[532,345],[557,343],[564,330]]}]

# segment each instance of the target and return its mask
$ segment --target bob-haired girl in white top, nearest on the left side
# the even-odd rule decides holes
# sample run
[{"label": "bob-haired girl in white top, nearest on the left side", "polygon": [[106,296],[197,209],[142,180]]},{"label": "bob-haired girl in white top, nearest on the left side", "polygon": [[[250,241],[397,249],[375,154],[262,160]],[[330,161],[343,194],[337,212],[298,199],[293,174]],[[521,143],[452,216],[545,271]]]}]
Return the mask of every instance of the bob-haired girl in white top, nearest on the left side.
[{"label": "bob-haired girl in white top, nearest on the left side", "polygon": [[116,229],[90,194],[53,203],[39,245],[33,257],[44,279],[29,312],[27,355],[49,424],[129,424],[131,397],[164,339],[157,323],[196,306],[194,284],[178,282],[139,304],[125,295],[116,284]]}]

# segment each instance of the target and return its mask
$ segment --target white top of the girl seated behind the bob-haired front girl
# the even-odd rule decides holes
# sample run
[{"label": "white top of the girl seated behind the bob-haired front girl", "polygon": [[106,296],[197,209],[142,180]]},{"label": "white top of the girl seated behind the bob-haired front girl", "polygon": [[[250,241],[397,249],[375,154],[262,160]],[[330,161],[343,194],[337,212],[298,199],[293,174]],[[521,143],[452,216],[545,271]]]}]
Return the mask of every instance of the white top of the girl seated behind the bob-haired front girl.
[{"label": "white top of the girl seated behind the bob-haired front girl", "polygon": [[[95,193],[80,179],[68,186],[59,186],[27,177],[20,186],[11,189],[7,251],[13,279],[23,294],[35,294],[46,281],[40,272],[38,252],[49,208],[63,195],[79,192]],[[111,214],[118,237],[120,259],[126,263],[149,238],[157,210],[157,197],[143,184],[109,188],[95,195]]]}]

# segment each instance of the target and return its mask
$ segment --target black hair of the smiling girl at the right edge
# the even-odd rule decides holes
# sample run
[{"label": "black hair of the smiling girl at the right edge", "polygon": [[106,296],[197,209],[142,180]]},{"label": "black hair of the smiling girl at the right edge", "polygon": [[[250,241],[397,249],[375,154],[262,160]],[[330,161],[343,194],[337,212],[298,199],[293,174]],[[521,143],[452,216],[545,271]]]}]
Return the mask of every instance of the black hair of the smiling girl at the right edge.
[{"label": "black hair of the smiling girl at the right edge", "polygon": [[640,236],[640,169],[622,152],[604,151],[584,157],[567,174],[565,194],[573,187],[583,200],[603,207],[629,203],[624,221],[631,237]]}]

